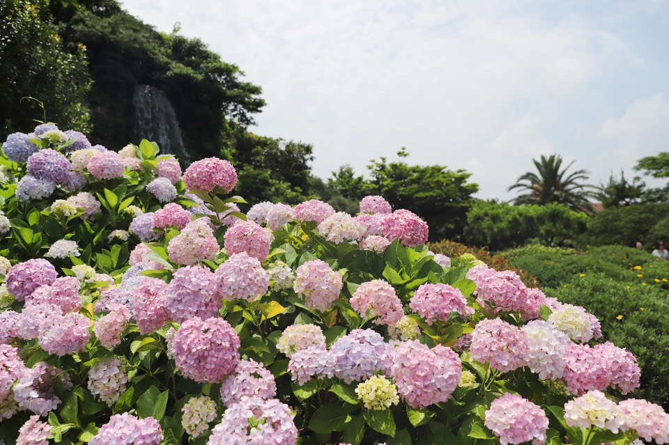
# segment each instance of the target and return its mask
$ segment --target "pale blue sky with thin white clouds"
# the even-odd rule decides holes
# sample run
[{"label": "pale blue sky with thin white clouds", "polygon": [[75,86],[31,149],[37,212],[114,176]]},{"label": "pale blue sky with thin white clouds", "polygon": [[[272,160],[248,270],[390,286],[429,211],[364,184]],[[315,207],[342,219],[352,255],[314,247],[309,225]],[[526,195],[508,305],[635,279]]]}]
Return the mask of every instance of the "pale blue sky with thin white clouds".
[{"label": "pale blue sky with thin white clouds", "polygon": [[322,178],[406,147],[509,199],[542,154],[597,183],[669,151],[669,0],[123,4],[238,65],[268,102],[252,131],[313,143]]}]

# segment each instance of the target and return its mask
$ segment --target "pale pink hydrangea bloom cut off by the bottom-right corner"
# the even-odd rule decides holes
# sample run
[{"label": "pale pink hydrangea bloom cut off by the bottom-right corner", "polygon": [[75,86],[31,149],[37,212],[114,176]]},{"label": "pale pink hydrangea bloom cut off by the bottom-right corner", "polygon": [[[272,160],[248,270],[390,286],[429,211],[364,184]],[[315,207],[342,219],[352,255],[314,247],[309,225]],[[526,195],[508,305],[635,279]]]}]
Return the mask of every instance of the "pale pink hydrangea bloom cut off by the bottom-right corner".
[{"label": "pale pink hydrangea bloom cut off by the bottom-right corner", "polygon": [[631,398],[620,402],[618,407],[627,417],[625,426],[636,430],[646,442],[655,439],[656,444],[669,443],[669,414],[661,406]]}]

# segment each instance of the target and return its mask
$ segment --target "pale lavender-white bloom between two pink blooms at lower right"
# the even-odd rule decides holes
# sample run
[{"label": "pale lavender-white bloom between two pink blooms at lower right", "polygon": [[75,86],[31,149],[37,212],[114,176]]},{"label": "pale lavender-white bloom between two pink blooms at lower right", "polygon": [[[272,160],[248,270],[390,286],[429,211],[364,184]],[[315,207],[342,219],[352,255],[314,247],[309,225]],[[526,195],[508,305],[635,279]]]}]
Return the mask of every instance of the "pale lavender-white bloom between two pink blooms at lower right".
[{"label": "pale lavender-white bloom between two pink blooms at lower right", "polygon": [[571,341],[567,334],[555,329],[552,323],[544,320],[532,320],[521,327],[528,338],[530,361],[528,365],[532,373],[538,373],[541,380],[562,378],[564,354]]}]

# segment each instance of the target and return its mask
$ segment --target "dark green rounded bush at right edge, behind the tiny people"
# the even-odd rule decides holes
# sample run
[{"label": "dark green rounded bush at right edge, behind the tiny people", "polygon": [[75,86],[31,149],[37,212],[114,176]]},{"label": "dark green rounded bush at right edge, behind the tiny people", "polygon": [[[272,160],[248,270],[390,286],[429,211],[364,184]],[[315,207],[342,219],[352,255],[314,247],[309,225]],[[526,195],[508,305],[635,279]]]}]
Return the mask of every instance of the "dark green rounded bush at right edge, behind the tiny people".
[{"label": "dark green rounded bush at right edge, behind the tiny people", "polygon": [[[667,223],[660,224],[668,212],[669,204],[625,205],[603,210],[592,215],[579,242],[583,247],[586,244],[603,246],[616,243],[633,246],[643,241],[651,249],[658,239],[669,239],[669,232],[663,232]],[[655,226],[658,226],[657,229]]]}]

